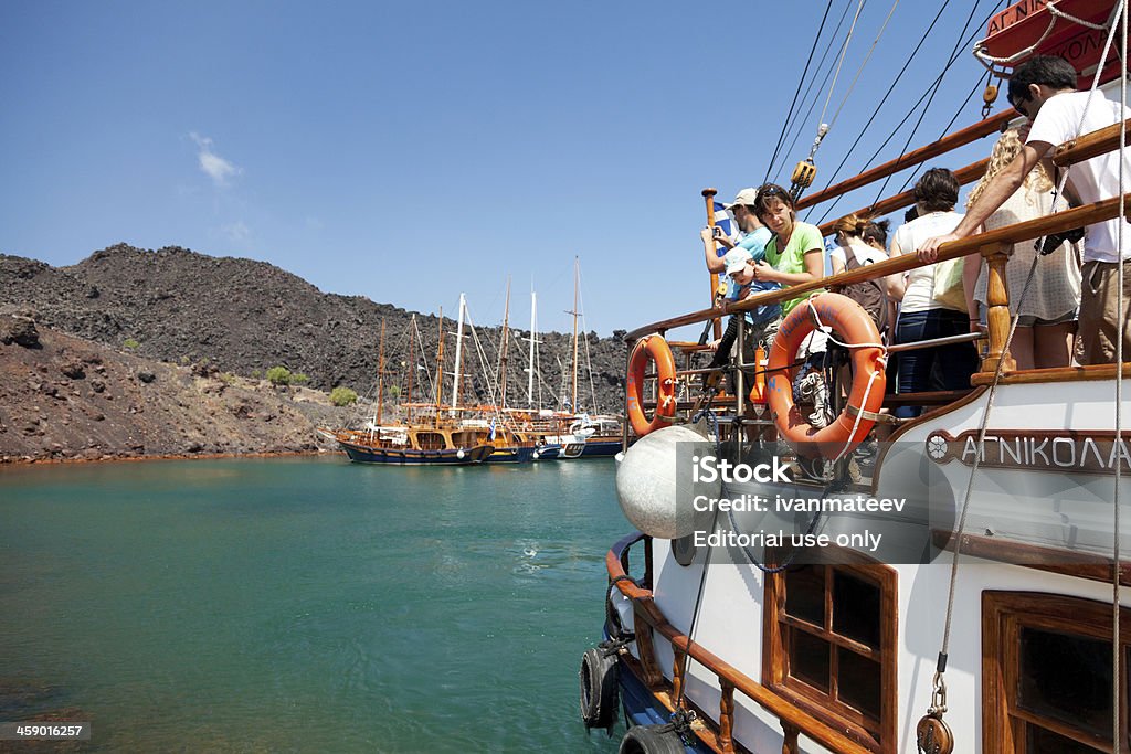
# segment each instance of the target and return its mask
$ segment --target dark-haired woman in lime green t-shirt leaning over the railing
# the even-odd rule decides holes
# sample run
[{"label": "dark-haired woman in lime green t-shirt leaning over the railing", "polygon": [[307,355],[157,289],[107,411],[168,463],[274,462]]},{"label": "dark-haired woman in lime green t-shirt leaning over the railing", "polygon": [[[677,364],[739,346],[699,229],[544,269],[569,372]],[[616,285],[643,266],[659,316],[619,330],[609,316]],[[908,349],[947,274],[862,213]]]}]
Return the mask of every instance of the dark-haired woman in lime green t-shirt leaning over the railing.
[{"label": "dark-haired woman in lime green t-shirt leaning over the railing", "polygon": [[[819,280],[824,276],[824,239],[815,225],[797,222],[789,192],[774,183],[758,189],[754,211],[774,237],[766,244],[766,261],[754,268],[754,279],[779,283],[784,287]],[[767,263],[768,262],[768,263]],[[810,292],[782,302],[782,314],[787,315]]]}]

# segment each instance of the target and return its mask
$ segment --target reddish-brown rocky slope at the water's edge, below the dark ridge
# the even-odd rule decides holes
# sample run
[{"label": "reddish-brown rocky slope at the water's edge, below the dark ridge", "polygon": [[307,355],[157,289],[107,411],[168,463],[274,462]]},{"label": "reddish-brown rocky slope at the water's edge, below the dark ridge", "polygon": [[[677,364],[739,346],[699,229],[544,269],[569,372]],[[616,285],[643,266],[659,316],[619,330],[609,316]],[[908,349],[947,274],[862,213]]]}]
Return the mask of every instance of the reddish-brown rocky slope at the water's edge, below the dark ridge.
[{"label": "reddish-brown rocky slope at the water's edge, below the dark ridge", "polygon": [[0,313],[0,463],[282,456],[335,450],[318,390],[198,362],[154,362]]}]

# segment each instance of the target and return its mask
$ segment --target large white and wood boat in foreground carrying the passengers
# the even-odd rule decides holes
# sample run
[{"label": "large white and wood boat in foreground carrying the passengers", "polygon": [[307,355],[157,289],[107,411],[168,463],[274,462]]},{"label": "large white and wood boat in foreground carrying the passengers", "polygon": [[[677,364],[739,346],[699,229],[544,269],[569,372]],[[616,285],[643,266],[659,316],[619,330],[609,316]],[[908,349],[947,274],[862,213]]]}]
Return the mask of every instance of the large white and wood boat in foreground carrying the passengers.
[{"label": "large white and wood boat in foreground carrying the passengers", "polygon": [[[1110,19],[1112,5],[1096,15]],[[1116,66],[1116,76],[1125,79],[1122,70]],[[986,118],[802,203],[922,163],[1013,118]],[[1060,145],[1054,162],[1068,167],[1119,149],[1125,128]],[[984,168],[957,173],[969,182]],[[897,194],[877,206],[889,213],[908,203]],[[1131,365],[1016,370],[1008,306],[1019,292],[1005,285],[1002,253],[1120,216],[1131,217],[1125,191],[941,248],[940,260],[982,254],[987,263],[979,370],[968,390],[878,400],[931,410],[893,423],[858,478],[847,469],[852,448],[881,421],[879,408],[864,405],[875,396],[853,391],[852,408],[838,407],[846,424],[837,443],[798,442],[791,434],[797,415],[783,413],[774,396],[789,390],[783,373],[792,372],[789,361],[775,361],[777,345],[768,365],[743,364],[740,353],[735,395],[719,404],[706,393],[693,406],[665,401],[672,388],[658,385],[645,400],[630,373],[630,410],[667,418],[650,419],[655,426],[618,470],[622,509],[640,530],[606,555],[606,641],[582,657],[584,722],[611,728],[623,711],[630,727],[622,752],[1128,751],[1131,562],[1121,553],[1131,540],[1119,512],[1131,493],[1131,448],[1120,425],[1131,410],[1122,392]],[[903,255],[759,294],[724,313],[920,266]],[[784,331],[831,321],[834,336],[847,339],[856,321],[835,294],[795,314]],[[625,340],[632,349],[718,317],[692,312]],[[777,343],[791,337],[779,333]],[[882,365],[882,345],[849,345],[857,370]],[[703,371],[656,363],[641,382],[671,376],[690,389]],[[759,371],[754,385],[741,367]],[[813,458],[828,459],[832,474],[802,474]]]}]

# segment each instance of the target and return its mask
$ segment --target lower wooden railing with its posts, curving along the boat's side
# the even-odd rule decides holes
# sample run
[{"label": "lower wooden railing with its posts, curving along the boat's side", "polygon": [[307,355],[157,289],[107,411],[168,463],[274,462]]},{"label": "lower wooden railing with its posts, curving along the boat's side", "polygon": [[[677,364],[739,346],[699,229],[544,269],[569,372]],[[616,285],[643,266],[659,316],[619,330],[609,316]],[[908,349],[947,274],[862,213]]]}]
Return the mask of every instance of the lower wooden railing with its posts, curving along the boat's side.
[{"label": "lower wooden railing with its posts, curving along the boat's side", "polygon": [[[622,538],[605,555],[605,567],[608,571],[610,582],[615,583],[620,592],[632,600],[633,632],[637,652],[640,656],[642,681],[649,691],[668,708],[668,711],[674,712],[676,704],[687,709],[685,697],[681,696],[680,690],[685,682],[683,675],[684,656],[688,655],[715,674],[722,690],[718,725],[708,726],[706,720],[700,718],[705,725],[696,729],[699,738],[714,751],[720,752],[720,754],[731,754],[736,751],[734,747],[734,694],[739,692],[780,722],[785,736],[785,743],[782,746],[783,754],[797,754],[800,752],[797,737],[802,733],[806,738],[840,754],[872,754],[871,749],[860,742],[797,709],[753,678],[740,673],[718,656],[694,643],[687,634],[667,622],[664,614],[656,607],[651,590],[638,587],[630,579],[621,579],[620,577],[628,575],[629,548],[645,539],[648,539],[647,535],[639,531]],[[650,584],[650,566],[646,567],[648,573],[645,574],[644,582]],[[675,657],[672,667],[671,694],[665,691],[664,676],[656,661],[656,650],[653,643],[656,633],[668,641]]]}]

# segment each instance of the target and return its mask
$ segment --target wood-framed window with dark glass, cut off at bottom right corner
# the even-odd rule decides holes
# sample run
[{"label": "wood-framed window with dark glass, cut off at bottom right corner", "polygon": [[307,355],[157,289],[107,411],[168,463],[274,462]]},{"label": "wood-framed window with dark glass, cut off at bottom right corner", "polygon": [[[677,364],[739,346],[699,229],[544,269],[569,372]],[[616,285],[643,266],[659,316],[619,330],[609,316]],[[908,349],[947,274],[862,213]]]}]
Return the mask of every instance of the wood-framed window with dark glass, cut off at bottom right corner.
[{"label": "wood-framed window with dark glass, cut off at bottom right corner", "polygon": [[[983,677],[987,751],[1112,749],[1112,608],[1078,597],[983,593]],[[1124,610],[1123,621],[1131,621]],[[1126,677],[1131,635],[1121,641]],[[1126,701],[1126,683],[1121,684]],[[1124,731],[1128,722],[1123,721]],[[1124,733],[1124,736],[1126,733]]]}]

